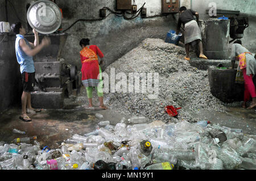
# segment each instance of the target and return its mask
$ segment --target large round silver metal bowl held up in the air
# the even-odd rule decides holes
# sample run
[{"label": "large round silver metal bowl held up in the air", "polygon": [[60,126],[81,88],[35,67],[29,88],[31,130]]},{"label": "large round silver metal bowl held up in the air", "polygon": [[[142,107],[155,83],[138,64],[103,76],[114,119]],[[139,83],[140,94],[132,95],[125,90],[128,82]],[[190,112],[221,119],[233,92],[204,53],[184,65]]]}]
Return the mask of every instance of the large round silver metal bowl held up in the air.
[{"label": "large round silver metal bowl held up in the air", "polygon": [[52,1],[39,0],[29,7],[27,20],[32,28],[42,34],[50,34],[59,29],[61,25],[61,12]]}]

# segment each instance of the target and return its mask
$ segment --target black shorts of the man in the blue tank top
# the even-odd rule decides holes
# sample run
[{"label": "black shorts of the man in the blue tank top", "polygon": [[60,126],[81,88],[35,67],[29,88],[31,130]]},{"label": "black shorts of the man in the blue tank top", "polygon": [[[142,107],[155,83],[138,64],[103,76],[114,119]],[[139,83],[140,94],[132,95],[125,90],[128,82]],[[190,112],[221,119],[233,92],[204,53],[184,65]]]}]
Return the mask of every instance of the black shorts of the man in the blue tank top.
[{"label": "black shorts of the man in the blue tank top", "polygon": [[22,85],[24,92],[33,92],[35,85],[35,72],[27,73],[26,71],[24,71],[22,73]]}]

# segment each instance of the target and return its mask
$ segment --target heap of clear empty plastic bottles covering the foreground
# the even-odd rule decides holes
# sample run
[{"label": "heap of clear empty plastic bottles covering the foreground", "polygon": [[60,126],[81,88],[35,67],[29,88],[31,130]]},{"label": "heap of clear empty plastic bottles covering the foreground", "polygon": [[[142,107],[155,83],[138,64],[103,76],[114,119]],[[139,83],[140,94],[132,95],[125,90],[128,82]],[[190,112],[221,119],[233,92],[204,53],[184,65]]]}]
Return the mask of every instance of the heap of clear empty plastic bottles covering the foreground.
[{"label": "heap of clear empty plastic bottles covering the foreground", "polygon": [[35,136],[0,142],[0,169],[256,169],[255,138],[209,121],[147,123],[139,116],[116,125],[100,121],[95,131],[75,134],[57,149],[40,145]]}]

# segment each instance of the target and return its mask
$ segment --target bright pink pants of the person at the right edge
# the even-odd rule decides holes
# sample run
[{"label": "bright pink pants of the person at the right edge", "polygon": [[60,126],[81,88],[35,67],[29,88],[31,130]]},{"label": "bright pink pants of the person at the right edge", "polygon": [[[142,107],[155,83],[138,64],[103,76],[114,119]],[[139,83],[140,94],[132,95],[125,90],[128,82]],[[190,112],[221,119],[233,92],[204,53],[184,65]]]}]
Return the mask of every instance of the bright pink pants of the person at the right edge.
[{"label": "bright pink pants of the person at the right edge", "polygon": [[256,91],[255,91],[255,86],[253,83],[253,74],[246,75],[246,68],[242,69],[243,70],[243,79],[245,80],[245,92],[243,96],[244,101],[250,100],[250,96],[252,98],[256,97]]}]

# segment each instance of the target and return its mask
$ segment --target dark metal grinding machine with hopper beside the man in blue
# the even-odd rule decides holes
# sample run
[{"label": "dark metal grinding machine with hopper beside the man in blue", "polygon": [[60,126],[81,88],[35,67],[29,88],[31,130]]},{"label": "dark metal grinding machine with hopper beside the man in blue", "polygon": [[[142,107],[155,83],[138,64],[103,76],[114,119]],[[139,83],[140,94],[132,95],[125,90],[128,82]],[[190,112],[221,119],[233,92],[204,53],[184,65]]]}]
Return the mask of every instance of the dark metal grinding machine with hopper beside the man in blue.
[{"label": "dark metal grinding machine with hopper beside the man in blue", "polygon": [[[64,107],[64,98],[77,94],[82,86],[81,72],[76,65],[68,64],[60,57],[67,33],[48,35],[51,45],[33,57],[36,70],[35,92],[31,92],[31,103],[36,108],[57,109]],[[39,35],[41,41],[44,35]],[[26,36],[34,41],[34,35]]]}]

